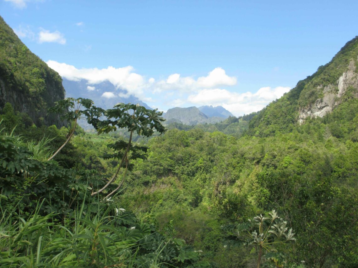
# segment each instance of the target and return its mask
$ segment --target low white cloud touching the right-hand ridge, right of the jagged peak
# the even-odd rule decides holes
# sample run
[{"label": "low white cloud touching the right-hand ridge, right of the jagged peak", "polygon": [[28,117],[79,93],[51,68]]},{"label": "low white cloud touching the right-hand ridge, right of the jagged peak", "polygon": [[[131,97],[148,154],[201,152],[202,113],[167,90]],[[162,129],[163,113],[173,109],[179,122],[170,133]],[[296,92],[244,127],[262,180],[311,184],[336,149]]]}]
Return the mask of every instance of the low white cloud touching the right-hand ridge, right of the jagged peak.
[{"label": "low white cloud touching the right-hand ridge, right of the jagged peak", "polygon": [[289,87],[263,87],[256,93],[234,93],[226,89],[203,89],[197,94],[188,96],[188,101],[194,105],[221,105],[234,115],[249,114],[261,110],[271,101],[281,98],[290,90]]}]

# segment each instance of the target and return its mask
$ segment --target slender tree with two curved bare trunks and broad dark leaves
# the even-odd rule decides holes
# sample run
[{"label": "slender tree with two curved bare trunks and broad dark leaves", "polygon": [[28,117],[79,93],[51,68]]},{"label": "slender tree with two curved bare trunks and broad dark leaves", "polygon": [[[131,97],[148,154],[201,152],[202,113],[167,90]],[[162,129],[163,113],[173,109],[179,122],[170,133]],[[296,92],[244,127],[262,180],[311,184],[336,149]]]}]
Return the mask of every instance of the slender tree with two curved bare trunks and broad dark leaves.
[{"label": "slender tree with two curved bare trunks and broad dark leaves", "polygon": [[88,123],[91,123],[97,129],[98,134],[109,133],[111,131],[116,131],[117,129],[127,129],[130,132],[129,141],[120,141],[111,145],[116,152],[112,157],[121,159],[120,163],[115,174],[113,174],[107,184],[96,192],[93,192],[92,196],[106,190],[111,183],[116,180],[118,172],[125,165],[122,182],[114,191],[109,193],[107,197],[114,194],[124,183],[127,170],[131,168],[129,160],[142,158],[142,153],[140,151],[146,152],[145,147],[132,145],[132,135],[134,132],[140,136],[150,137],[154,134],[154,130],[160,134],[163,134],[166,131],[165,127],[161,124],[161,122],[165,121],[165,119],[161,117],[163,112],[158,112],[157,109],[150,110],[139,104],[135,105],[130,103],[118,103],[113,108],[114,109],[105,111],[104,115],[107,117],[106,120],[92,118],[91,120],[88,120]]}]

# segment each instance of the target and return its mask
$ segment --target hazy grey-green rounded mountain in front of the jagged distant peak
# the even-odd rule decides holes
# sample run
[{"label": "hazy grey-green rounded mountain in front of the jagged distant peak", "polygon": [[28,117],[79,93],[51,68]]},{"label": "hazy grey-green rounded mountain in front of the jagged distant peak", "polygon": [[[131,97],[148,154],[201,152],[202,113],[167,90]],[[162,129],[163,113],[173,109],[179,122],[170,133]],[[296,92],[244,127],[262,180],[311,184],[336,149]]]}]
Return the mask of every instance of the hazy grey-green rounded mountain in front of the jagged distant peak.
[{"label": "hazy grey-green rounded mountain in front of the jagged distant peak", "polygon": [[197,125],[204,123],[217,123],[224,118],[222,117],[209,117],[202,113],[197,107],[188,107],[188,108],[171,108],[166,113],[163,114],[163,117],[166,119],[165,123],[182,123],[184,125]]}]

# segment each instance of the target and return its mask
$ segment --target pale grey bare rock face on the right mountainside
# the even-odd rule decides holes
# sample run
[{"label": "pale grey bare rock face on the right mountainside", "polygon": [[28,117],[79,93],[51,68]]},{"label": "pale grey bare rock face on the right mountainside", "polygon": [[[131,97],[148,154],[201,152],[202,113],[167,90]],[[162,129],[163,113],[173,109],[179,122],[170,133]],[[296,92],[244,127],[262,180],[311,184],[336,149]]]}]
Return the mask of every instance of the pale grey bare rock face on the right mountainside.
[{"label": "pale grey bare rock face on the right mountainside", "polygon": [[[358,60],[358,59],[357,59]],[[355,72],[355,61],[352,59],[348,65],[348,70],[345,71],[337,80],[336,84],[325,86],[318,86],[322,90],[323,97],[317,99],[314,104],[306,107],[300,107],[298,123],[304,123],[306,118],[323,117],[332,112],[332,110],[342,102],[342,96],[346,93],[349,87],[357,89],[354,97],[358,98],[358,74]]]}]

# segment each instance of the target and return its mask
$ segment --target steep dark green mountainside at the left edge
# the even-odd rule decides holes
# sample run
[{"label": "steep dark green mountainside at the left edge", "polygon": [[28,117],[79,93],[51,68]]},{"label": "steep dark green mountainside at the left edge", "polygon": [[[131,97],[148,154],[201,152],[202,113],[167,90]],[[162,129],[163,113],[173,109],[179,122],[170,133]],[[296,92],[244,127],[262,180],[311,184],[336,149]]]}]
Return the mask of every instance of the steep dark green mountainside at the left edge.
[{"label": "steep dark green mountainside at the left edge", "polygon": [[0,17],[0,108],[9,102],[15,111],[26,113],[36,125],[64,122],[47,113],[64,98],[61,76],[33,54]]}]

